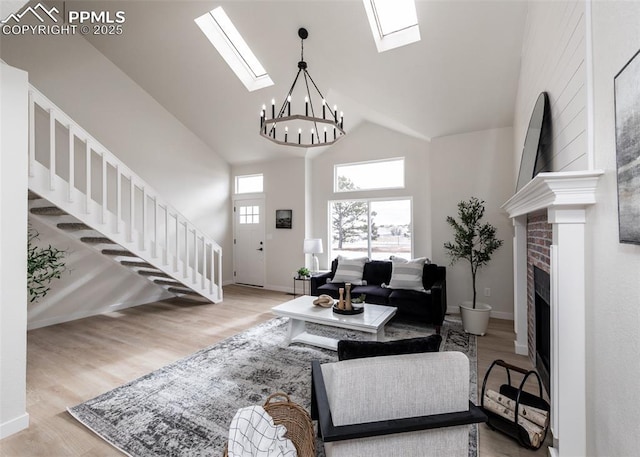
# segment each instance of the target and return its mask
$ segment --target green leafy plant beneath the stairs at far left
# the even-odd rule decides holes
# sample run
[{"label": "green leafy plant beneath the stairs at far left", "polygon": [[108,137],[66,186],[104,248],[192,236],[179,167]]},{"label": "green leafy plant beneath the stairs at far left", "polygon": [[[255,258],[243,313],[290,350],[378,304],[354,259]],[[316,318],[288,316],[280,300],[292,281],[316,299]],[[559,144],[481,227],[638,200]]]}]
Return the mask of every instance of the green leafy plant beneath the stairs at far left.
[{"label": "green leafy plant beneath the stairs at far left", "polygon": [[46,248],[38,246],[36,240],[39,233],[29,226],[27,238],[27,288],[29,301],[36,302],[47,295],[51,289],[51,282],[60,279],[66,271],[64,258],[67,251],[48,245]]}]

